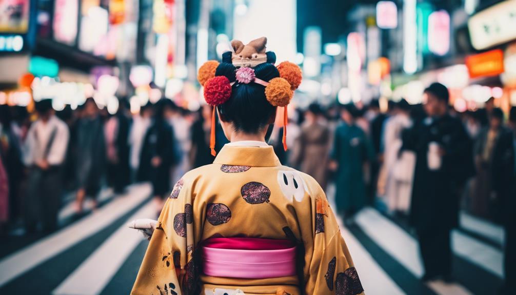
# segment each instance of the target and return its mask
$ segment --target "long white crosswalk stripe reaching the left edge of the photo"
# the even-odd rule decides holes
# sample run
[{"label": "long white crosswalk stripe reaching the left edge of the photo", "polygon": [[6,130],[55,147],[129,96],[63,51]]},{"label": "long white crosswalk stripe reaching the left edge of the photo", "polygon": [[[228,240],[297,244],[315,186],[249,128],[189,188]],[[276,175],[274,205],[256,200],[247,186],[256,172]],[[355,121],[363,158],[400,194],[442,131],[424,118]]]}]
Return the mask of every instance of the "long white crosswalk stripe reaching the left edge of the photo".
[{"label": "long white crosswalk stripe reaching the left edge of the photo", "polygon": [[43,261],[54,257],[76,243],[101,231],[146,199],[149,184],[130,187],[126,195],[103,206],[98,211],[0,260],[0,286],[13,280]]}]

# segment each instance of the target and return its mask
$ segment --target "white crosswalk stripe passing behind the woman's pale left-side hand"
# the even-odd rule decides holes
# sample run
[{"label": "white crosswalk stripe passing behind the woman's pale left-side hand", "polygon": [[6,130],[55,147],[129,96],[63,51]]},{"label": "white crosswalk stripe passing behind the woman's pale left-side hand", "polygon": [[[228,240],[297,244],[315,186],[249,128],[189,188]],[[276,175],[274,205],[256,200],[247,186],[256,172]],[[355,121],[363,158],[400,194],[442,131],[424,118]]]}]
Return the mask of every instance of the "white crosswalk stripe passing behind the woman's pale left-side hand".
[{"label": "white crosswalk stripe passing behind the woman's pale left-side hand", "polygon": [[[155,214],[155,204],[148,202],[127,222],[139,218],[155,218]],[[100,294],[142,239],[143,236],[138,231],[128,228],[127,224],[122,225],[52,293],[54,295]]]}]

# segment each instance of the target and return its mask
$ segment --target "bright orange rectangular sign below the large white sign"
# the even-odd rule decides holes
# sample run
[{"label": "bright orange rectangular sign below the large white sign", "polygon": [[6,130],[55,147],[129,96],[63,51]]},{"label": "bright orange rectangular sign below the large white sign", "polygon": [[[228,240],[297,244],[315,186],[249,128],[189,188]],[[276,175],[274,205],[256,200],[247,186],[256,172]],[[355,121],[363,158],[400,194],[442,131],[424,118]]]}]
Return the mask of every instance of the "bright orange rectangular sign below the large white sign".
[{"label": "bright orange rectangular sign below the large white sign", "polygon": [[500,49],[466,57],[470,78],[496,76],[504,72],[504,52]]}]

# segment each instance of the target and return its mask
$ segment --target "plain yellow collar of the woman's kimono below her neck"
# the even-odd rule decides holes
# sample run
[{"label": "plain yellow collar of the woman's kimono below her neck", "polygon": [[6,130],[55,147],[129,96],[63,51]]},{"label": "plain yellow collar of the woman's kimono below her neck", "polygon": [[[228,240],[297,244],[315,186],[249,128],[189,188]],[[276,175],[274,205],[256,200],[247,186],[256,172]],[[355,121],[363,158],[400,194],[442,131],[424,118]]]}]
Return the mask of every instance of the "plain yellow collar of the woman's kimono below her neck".
[{"label": "plain yellow collar of the woman's kimono below her neck", "polygon": [[[264,144],[266,144],[264,142]],[[274,153],[271,145],[263,144],[253,146],[235,146],[235,143],[225,144],[213,161],[221,165],[238,165],[251,167],[276,167],[281,166],[280,160]]]}]

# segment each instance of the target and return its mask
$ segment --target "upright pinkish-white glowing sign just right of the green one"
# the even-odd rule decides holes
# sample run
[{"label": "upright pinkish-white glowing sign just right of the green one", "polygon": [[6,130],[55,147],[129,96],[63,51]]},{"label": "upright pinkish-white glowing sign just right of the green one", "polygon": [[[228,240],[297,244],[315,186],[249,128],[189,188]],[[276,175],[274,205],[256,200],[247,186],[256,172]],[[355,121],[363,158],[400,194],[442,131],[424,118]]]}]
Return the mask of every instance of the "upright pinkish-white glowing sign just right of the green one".
[{"label": "upright pinkish-white glowing sign just right of the green one", "polygon": [[428,17],[428,49],[445,55],[450,48],[450,15],[444,10],[434,11]]}]

